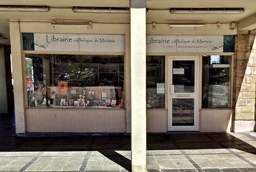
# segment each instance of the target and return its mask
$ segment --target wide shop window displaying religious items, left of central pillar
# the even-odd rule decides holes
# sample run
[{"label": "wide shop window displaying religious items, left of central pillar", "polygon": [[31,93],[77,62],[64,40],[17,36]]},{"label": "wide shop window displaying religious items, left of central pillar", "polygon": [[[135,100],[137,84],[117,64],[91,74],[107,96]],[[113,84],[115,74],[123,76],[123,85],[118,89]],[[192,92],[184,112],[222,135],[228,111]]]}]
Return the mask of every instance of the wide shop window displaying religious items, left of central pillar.
[{"label": "wide shop window displaying religious items, left of central pillar", "polygon": [[26,54],[28,107],[124,108],[123,58]]}]

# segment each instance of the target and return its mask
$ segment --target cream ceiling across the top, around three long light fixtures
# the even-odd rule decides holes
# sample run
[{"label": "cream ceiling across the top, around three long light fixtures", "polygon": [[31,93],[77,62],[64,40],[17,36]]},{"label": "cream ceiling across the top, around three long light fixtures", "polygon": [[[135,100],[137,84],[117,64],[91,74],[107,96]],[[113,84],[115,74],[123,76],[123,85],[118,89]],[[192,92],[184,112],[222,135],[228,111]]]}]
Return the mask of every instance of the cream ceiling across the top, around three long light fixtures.
[{"label": "cream ceiling across the top, around three long light fixtures", "polygon": [[[129,22],[129,14],[74,13],[72,7],[129,7],[129,0],[1,0],[0,5],[49,6],[49,12],[0,12],[0,44],[9,44],[9,19],[47,20],[66,22]],[[244,8],[243,14],[170,14],[169,10],[148,10],[147,23],[230,23],[239,22],[256,13],[256,0],[147,0],[148,9],[169,8]]]}]

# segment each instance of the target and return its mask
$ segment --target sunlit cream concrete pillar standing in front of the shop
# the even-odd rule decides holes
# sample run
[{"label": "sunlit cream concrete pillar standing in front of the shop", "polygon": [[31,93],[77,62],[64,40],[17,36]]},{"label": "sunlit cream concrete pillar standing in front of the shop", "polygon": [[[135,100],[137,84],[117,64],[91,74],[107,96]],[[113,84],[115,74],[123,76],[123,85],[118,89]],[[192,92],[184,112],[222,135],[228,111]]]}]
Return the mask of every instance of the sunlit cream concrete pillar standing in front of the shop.
[{"label": "sunlit cream concrete pillar standing in front of the shop", "polygon": [[146,171],[146,2],[130,0],[132,171]]}]

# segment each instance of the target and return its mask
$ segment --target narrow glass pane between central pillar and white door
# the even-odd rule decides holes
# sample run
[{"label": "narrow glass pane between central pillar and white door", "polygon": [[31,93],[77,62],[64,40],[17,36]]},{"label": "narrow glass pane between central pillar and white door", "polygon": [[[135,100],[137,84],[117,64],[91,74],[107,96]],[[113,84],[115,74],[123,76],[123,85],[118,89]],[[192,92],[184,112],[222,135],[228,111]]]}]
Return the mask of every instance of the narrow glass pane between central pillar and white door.
[{"label": "narrow glass pane between central pillar and white door", "polygon": [[146,107],[164,109],[164,56],[146,56]]}]

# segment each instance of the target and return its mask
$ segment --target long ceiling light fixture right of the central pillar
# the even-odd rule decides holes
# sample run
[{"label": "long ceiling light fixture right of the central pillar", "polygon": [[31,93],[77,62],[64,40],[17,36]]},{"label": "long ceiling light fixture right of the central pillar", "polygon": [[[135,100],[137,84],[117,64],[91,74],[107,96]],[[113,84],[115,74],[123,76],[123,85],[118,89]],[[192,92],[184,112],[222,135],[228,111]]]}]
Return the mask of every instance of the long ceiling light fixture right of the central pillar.
[{"label": "long ceiling light fixture right of the central pillar", "polygon": [[242,14],[243,8],[171,8],[171,14]]}]

